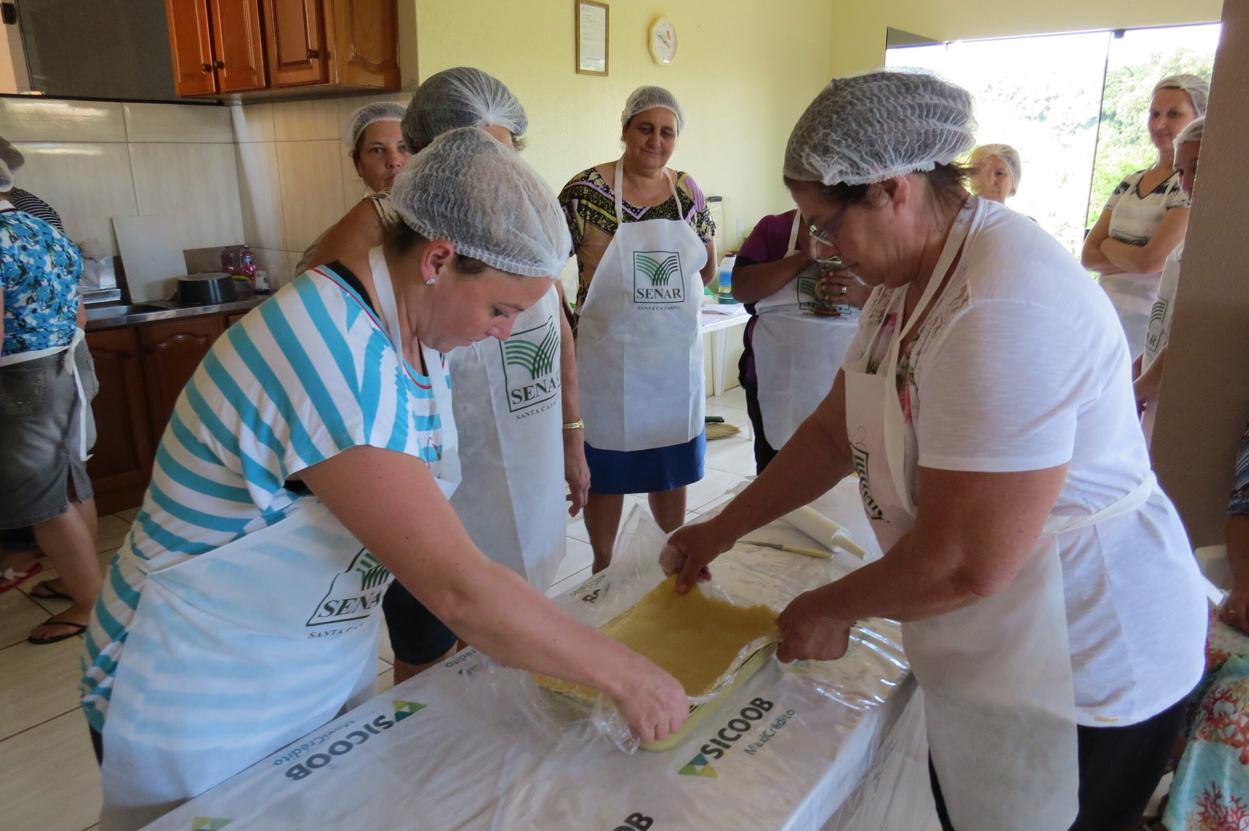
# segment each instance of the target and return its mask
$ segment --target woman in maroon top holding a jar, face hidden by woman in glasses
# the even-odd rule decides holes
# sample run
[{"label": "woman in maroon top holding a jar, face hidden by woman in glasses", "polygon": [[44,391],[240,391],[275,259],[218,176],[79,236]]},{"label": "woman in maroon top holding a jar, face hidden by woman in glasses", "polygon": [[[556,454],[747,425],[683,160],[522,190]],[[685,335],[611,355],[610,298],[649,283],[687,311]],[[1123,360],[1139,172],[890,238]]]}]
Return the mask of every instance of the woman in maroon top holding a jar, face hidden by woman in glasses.
[{"label": "woman in maroon top holding a jar, face hidden by woman in glasses", "polygon": [[816,260],[809,240],[797,208],[766,216],[733,266],[733,297],[754,316],[737,371],[754,427],[756,473],[833,388],[872,293],[838,261]]}]

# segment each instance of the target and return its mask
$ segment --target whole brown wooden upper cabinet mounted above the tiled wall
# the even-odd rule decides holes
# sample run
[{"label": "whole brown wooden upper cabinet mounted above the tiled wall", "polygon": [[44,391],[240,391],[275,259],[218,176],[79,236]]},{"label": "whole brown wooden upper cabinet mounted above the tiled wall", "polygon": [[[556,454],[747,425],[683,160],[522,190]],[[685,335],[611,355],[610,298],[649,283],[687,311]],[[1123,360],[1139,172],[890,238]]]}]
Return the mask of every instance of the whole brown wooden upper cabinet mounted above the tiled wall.
[{"label": "whole brown wooden upper cabinet mounted above the tiled wall", "polygon": [[181,96],[400,87],[398,0],[165,0]]}]

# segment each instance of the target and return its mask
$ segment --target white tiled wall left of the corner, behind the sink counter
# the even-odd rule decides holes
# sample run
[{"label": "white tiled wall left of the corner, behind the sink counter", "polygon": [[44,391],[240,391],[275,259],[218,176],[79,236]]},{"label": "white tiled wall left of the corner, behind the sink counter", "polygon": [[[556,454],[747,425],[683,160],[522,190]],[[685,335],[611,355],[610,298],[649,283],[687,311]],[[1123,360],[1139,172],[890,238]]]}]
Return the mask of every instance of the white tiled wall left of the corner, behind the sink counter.
[{"label": "white tiled wall left of the corner, behind the sink counter", "polygon": [[244,222],[227,107],[0,99],[14,178],[79,243],[117,253],[112,217],[172,213],[182,248],[237,245]]}]

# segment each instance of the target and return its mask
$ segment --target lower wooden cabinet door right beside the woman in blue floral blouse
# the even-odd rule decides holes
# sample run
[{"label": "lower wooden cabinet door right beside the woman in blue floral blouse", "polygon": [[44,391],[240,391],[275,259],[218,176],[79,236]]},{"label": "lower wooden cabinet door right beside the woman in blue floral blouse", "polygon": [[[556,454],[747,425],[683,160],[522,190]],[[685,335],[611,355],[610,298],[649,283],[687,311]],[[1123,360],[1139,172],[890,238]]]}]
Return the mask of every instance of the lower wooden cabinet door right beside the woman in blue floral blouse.
[{"label": "lower wooden cabinet door right beside the woman in blue floral blouse", "polygon": [[90,332],[87,348],[95,361],[100,392],[91,401],[96,440],[86,463],[101,514],[142,502],[152,470],[152,438],[147,396],[134,327]]}]

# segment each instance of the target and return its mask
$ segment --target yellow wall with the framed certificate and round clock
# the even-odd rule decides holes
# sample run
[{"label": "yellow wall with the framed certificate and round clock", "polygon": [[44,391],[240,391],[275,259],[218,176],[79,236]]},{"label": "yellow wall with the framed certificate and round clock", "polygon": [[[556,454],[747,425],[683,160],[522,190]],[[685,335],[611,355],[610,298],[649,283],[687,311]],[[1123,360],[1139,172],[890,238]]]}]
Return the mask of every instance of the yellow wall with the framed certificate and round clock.
[{"label": "yellow wall with the framed certificate and round clock", "polygon": [[[708,196],[724,197],[724,243],[736,247],[738,218],[748,228],[792,207],[781,160],[798,115],[831,77],[832,4],[615,0],[610,7],[610,74],[598,77],[573,71],[573,0],[417,0],[421,77],[468,65],[507,84],[530,116],[525,157],[557,190],[620,156],[620,114],[634,87],[666,86],[689,122],[671,163]],[[661,15],[679,41],[668,66],[647,50]]]}]

